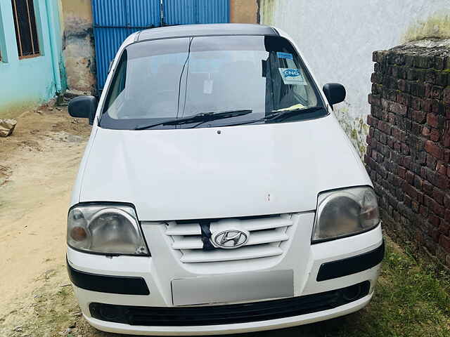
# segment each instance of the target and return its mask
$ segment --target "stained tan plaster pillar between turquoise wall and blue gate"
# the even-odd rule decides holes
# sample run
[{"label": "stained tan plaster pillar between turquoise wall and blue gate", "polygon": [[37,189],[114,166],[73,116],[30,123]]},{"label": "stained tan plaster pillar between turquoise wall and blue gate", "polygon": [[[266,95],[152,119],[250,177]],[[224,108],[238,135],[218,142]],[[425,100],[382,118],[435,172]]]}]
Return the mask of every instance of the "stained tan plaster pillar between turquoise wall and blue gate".
[{"label": "stained tan plaster pillar between turquoise wall and blue gate", "polygon": [[60,1],[68,87],[93,92],[96,88],[96,63],[91,0]]}]

